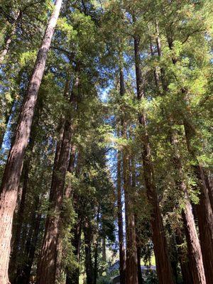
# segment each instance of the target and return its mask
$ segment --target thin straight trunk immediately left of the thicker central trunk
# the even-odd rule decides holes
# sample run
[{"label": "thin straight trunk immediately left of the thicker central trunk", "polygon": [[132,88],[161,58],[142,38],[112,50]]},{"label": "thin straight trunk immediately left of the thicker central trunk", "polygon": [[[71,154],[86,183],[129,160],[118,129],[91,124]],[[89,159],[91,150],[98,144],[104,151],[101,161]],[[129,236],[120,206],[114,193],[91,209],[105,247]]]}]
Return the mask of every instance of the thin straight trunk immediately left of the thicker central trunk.
[{"label": "thin straight trunk immediately left of the thicker central trunk", "polygon": [[121,198],[121,153],[118,152],[117,160],[117,195],[118,195],[118,226],[119,226],[119,271],[120,283],[125,284],[125,247],[124,247],[124,229],[123,229],[123,216],[122,216],[122,198]]}]

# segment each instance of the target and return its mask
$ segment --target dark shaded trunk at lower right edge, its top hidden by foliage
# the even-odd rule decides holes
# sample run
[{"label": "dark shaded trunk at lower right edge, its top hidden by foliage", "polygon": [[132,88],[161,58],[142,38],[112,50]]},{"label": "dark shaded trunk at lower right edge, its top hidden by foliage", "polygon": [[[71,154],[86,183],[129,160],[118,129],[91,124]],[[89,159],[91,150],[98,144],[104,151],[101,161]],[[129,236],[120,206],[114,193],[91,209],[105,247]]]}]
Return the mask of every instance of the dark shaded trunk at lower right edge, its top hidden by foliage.
[{"label": "dark shaded trunk at lower right edge, its top hidden by foliage", "polygon": [[[168,46],[170,50],[173,50],[173,39],[168,37]],[[173,64],[175,65],[177,60],[173,58]],[[183,102],[186,104],[185,89],[182,88]],[[187,148],[195,160],[196,165],[192,168],[194,170],[197,179],[200,180],[200,202],[197,204],[197,217],[198,226],[200,232],[200,245],[202,249],[202,258],[204,263],[204,271],[206,276],[207,284],[212,283],[213,279],[213,211],[211,199],[209,199],[209,194],[211,194],[211,188],[208,188],[209,183],[205,179],[206,173],[202,165],[200,165],[197,159],[196,150],[193,147],[193,139],[196,138],[196,129],[190,123],[191,114],[188,108],[187,118],[183,116],[183,125],[185,128],[185,137],[187,142]]]}]

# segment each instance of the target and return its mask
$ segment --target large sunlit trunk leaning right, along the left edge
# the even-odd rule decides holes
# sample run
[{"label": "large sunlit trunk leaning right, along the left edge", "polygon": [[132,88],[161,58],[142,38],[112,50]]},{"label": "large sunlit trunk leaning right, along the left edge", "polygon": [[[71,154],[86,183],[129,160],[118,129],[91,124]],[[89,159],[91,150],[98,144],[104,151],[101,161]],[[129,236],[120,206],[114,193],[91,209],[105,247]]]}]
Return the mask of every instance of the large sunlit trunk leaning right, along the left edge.
[{"label": "large sunlit trunk leaning right, along the left edge", "polygon": [[31,124],[35,104],[38,97],[40,82],[43,77],[45,62],[53,37],[55,24],[57,22],[62,0],[56,0],[55,9],[50,16],[48,26],[43,36],[43,43],[38,52],[37,60],[33,70],[33,75],[28,84],[28,90],[23,102],[23,107],[19,116],[16,133],[13,144],[9,152],[9,157],[4,170],[1,182],[0,197],[0,282],[1,284],[9,283],[8,268],[10,255],[10,241],[13,222],[13,212],[16,208],[16,200],[18,196],[18,185],[21,178],[21,170],[23,165],[23,157],[26,152],[28,138],[31,131]]}]

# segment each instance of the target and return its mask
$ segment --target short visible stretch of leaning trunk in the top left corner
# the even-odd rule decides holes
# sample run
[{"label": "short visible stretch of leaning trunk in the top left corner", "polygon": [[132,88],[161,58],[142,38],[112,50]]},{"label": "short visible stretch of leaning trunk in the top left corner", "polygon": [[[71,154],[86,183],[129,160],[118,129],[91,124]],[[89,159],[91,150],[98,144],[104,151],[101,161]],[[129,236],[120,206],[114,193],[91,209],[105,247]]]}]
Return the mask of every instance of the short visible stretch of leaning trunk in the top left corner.
[{"label": "short visible stretch of leaning trunk in the top left corner", "polygon": [[22,16],[21,11],[17,11],[15,13],[14,21],[13,21],[12,26],[11,26],[11,31],[10,31],[9,35],[6,36],[4,48],[0,52],[0,67],[1,67],[2,63],[4,62],[4,58],[9,51],[9,47],[10,47],[11,42],[13,40],[13,36],[16,34],[16,26],[17,26],[17,23],[20,20],[21,16]]}]

